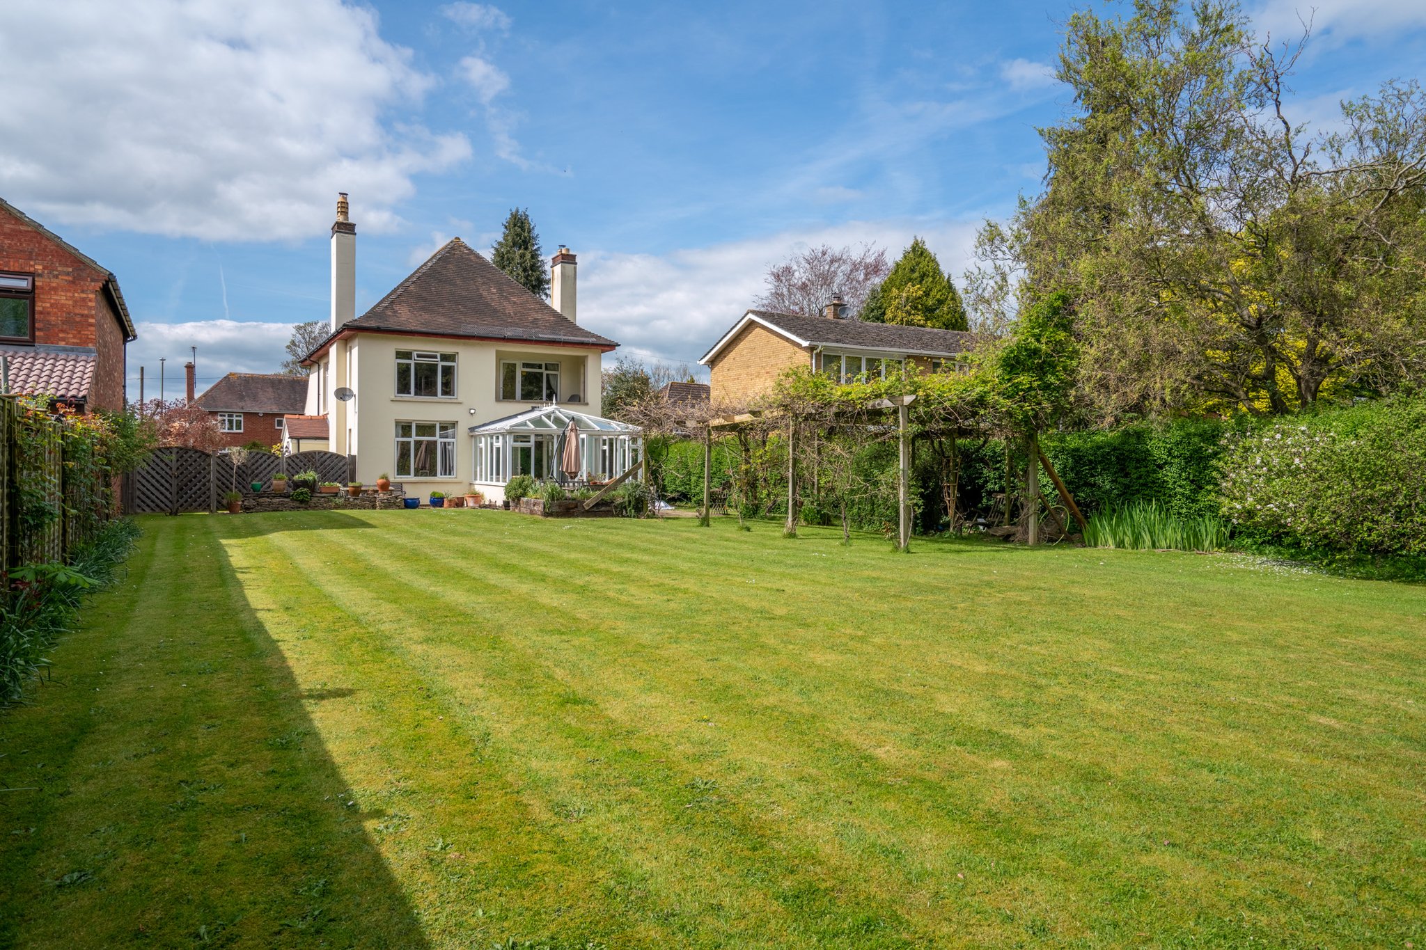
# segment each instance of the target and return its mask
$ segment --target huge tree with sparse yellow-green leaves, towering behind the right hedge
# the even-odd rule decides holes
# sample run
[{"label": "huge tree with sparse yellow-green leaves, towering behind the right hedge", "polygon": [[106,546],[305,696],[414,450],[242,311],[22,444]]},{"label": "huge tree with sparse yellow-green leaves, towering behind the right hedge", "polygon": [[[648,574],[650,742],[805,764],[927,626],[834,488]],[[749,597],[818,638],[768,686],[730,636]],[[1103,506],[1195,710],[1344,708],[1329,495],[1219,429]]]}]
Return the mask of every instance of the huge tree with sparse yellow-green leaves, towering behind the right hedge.
[{"label": "huge tree with sparse yellow-green leaves, towering behind the right hedge", "polygon": [[981,232],[980,285],[1074,293],[1105,417],[1283,413],[1426,366],[1426,97],[1387,84],[1313,137],[1286,105],[1301,48],[1231,0],[1070,19],[1078,114],[1041,130],[1045,191]]}]

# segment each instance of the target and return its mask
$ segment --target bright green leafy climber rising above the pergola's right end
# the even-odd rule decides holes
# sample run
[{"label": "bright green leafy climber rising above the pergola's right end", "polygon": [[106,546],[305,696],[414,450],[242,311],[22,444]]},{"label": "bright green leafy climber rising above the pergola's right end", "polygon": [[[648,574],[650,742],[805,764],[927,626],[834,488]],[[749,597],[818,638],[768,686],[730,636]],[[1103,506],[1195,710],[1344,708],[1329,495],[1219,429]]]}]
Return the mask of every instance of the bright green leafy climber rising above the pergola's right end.
[{"label": "bright green leafy climber rising above the pergola's right end", "polygon": [[995,387],[1011,426],[1030,434],[1064,414],[1079,353],[1071,335],[1070,295],[1051,293],[1027,308],[995,353]]}]

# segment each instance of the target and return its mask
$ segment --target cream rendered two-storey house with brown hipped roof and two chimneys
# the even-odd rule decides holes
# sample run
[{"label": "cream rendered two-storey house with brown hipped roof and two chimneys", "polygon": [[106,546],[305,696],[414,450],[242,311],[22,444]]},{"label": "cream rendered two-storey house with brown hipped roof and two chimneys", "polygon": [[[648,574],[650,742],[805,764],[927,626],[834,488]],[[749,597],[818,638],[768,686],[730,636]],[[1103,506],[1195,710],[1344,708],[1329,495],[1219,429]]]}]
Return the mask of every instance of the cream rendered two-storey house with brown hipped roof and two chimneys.
[{"label": "cream rendered two-storey house with brown hipped roof and two chimneys", "polygon": [[[556,474],[558,433],[530,429],[532,409],[576,419],[589,460],[582,477],[610,474],[602,460],[637,460],[637,430],[599,426],[600,357],[617,343],[575,322],[566,248],[552,261],[558,309],[455,238],[355,316],[355,245],[344,194],[331,239],[332,329],[304,360],[304,417],[325,419],[329,450],[356,456],[358,480],[385,473],[408,496],[473,487],[501,500],[515,474]],[[523,424],[506,432],[506,419]]]}]

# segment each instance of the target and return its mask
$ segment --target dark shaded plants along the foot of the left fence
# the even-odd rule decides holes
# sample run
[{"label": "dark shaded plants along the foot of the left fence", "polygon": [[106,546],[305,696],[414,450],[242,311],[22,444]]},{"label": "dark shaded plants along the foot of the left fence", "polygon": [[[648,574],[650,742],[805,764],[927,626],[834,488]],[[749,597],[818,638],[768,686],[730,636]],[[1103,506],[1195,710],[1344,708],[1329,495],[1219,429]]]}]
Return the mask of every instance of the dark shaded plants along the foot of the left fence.
[{"label": "dark shaded plants along the foot of the left fence", "polygon": [[70,630],[83,595],[111,584],[138,530],[114,518],[70,551],[68,564],[23,564],[0,593],[0,705],[24,699],[48,651]]}]

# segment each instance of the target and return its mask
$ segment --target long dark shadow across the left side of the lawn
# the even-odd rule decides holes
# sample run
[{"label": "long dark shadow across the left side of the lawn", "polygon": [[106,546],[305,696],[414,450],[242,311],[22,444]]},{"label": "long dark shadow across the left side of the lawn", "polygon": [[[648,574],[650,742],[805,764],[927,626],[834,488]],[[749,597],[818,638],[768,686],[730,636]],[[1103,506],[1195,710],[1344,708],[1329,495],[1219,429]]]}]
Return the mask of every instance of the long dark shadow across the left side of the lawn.
[{"label": "long dark shadow across the left side of the lawn", "polygon": [[6,751],[44,755],[3,803],[30,832],[0,842],[0,946],[429,946],[362,823],[386,812],[358,806],[304,706],[355,691],[302,689],[217,527],[145,518],[127,583],[66,644],[78,688],[9,716]]}]

